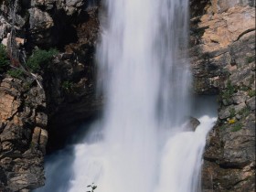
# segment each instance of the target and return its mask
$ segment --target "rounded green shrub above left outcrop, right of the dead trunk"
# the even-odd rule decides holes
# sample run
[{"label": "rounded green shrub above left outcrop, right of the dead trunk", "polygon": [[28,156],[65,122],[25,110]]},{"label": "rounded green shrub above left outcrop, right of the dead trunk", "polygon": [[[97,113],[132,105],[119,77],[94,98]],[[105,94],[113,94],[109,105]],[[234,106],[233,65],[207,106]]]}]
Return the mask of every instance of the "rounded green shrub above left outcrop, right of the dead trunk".
[{"label": "rounded green shrub above left outcrop, right of the dead trunk", "polygon": [[38,72],[39,69],[49,64],[51,59],[58,54],[58,50],[50,48],[49,50],[37,49],[27,59],[27,67],[33,72]]}]

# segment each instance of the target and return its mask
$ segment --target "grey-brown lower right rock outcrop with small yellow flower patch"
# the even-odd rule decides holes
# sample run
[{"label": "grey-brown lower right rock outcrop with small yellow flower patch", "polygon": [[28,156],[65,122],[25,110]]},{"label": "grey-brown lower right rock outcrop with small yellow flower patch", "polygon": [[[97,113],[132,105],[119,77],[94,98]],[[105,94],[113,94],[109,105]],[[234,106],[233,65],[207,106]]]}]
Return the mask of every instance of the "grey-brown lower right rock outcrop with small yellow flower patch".
[{"label": "grey-brown lower right rock outcrop with small yellow flower patch", "polygon": [[[214,191],[254,191],[255,35],[230,45],[240,60],[219,91],[219,122],[204,155],[205,187]],[[253,60],[248,59],[252,57]],[[254,104],[254,105],[253,105]]]}]

